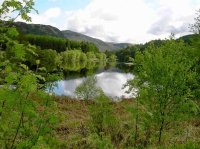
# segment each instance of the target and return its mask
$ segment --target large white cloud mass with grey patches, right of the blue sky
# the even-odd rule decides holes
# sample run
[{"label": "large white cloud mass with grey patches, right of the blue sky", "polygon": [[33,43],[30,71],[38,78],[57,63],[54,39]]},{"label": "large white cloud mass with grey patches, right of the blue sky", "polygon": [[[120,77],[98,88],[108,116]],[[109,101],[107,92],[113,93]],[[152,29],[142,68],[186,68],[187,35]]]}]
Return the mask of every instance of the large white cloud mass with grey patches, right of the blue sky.
[{"label": "large white cloud mass with grey patches, right of the blue sky", "polygon": [[[62,29],[115,42],[146,42],[188,33],[200,2],[194,0],[92,0],[84,9],[66,11]],[[154,32],[155,31],[155,32]]]}]

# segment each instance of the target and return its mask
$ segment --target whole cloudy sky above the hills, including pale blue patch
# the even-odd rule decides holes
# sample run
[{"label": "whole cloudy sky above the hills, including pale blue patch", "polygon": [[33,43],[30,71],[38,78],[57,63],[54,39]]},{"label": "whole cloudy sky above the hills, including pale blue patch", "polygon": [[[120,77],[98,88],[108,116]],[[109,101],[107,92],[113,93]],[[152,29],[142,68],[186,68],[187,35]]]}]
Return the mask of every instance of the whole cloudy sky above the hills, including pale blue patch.
[{"label": "whole cloudy sky above the hills, including pale blue patch", "polygon": [[32,23],[108,42],[145,43],[191,34],[200,0],[35,0],[35,8]]}]

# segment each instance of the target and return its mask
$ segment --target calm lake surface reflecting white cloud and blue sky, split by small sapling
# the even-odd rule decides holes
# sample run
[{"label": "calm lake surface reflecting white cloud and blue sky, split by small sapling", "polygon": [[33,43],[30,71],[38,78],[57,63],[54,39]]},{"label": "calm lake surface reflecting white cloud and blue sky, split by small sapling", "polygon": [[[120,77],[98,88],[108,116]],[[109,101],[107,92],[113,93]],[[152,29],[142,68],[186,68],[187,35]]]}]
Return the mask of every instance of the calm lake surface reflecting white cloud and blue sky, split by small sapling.
[{"label": "calm lake surface reflecting white cloud and blue sky, split by small sapling", "polygon": [[[131,73],[125,73],[115,68],[97,71],[94,76],[97,78],[97,86],[101,87],[107,96],[113,99],[133,97],[132,94],[125,93],[127,88],[123,89],[124,84],[128,80],[134,78]],[[54,92],[56,95],[76,97],[74,94],[75,88],[80,85],[85,78],[86,77],[69,77],[65,80],[58,81],[58,86],[54,88]]]}]

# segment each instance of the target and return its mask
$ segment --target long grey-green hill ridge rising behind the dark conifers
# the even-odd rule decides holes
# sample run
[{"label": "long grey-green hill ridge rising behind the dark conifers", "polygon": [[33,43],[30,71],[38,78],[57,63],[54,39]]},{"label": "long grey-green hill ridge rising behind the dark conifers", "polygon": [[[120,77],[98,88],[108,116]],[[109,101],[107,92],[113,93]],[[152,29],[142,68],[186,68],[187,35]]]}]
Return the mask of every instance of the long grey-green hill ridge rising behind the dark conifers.
[{"label": "long grey-green hill ridge rising behind the dark conifers", "polygon": [[73,32],[70,30],[61,31],[56,27],[42,24],[27,24],[23,22],[16,22],[15,26],[23,34],[34,35],[48,35],[53,37],[67,38],[75,41],[86,41],[95,44],[100,51],[113,51],[129,46],[128,43],[109,43],[100,39],[92,38],[81,33]]}]

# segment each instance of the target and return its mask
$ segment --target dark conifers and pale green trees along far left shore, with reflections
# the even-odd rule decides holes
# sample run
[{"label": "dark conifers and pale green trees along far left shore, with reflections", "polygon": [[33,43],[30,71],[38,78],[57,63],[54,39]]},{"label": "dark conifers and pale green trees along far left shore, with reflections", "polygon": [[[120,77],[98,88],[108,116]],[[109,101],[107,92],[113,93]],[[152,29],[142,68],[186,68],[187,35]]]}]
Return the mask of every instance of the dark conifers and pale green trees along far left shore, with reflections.
[{"label": "dark conifers and pale green trees along far left shore, with reflections", "polygon": [[[94,62],[103,66],[106,65],[106,55],[98,52],[97,48],[88,42],[39,35],[21,36],[20,42],[24,43],[24,41],[41,47],[41,50],[32,48],[31,53],[26,54],[27,64],[31,68],[36,67],[36,71],[39,66],[45,67],[47,72],[53,72],[58,68],[57,66],[64,71],[79,71],[83,68],[94,68],[94,65],[96,66]],[[26,43],[26,45],[29,44]],[[46,50],[45,48],[53,50]],[[36,61],[39,63],[37,64]]]}]

